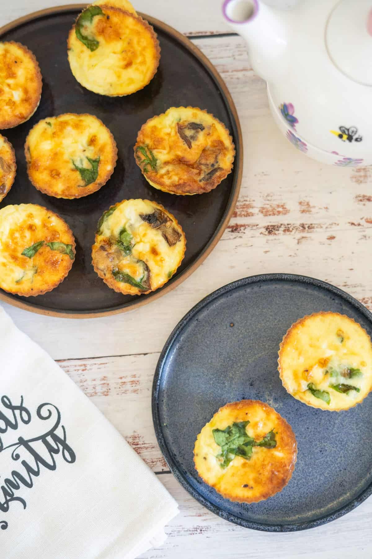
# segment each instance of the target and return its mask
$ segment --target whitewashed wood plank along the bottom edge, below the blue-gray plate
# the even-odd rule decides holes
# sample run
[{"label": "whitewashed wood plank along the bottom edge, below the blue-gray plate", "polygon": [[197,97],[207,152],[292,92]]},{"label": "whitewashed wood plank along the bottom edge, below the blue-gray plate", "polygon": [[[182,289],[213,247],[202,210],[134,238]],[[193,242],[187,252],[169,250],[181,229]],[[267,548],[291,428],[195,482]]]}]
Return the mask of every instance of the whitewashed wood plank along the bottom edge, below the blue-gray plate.
[{"label": "whitewashed wood plank along the bottom edge, below the blue-gray plate", "polygon": [[[180,514],[166,527],[168,539],[141,559],[370,559],[372,500],[345,517],[305,532],[272,534],[222,520],[195,501],[171,474],[160,481],[180,503]],[[192,536],[192,537],[191,537]]]}]

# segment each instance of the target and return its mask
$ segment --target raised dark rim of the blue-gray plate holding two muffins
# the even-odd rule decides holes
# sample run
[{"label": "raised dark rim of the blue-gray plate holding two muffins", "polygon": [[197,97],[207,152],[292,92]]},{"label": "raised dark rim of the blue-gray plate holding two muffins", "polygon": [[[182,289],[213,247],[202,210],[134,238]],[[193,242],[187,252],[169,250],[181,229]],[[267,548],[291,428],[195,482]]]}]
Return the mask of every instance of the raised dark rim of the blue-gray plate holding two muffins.
[{"label": "raised dark rim of the blue-gray plate holding two muffins", "polygon": [[253,530],[259,530],[261,532],[299,532],[301,530],[307,530],[310,528],[316,528],[323,524],[327,524],[328,522],[332,522],[337,518],[344,516],[345,514],[349,513],[351,510],[355,509],[359,506],[363,501],[365,501],[371,494],[372,494],[372,480],[368,486],[365,487],[363,491],[360,492],[354,499],[349,501],[346,505],[340,507],[340,509],[335,510],[330,514],[323,515],[320,518],[315,520],[308,520],[306,522],[300,523],[291,523],[291,524],[264,524],[260,522],[253,522],[250,520],[245,520],[242,518],[237,517],[235,514],[230,514],[221,509],[219,506],[212,504],[209,500],[205,499],[194,487],[192,487],[189,482],[183,476],[183,473],[178,469],[173,457],[171,455],[170,449],[168,449],[167,444],[165,442],[165,438],[163,437],[162,431],[162,424],[160,421],[159,416],[159,400],[158,400],[158,391],[160,388],[160,381],[162,375],[162,369],[165,364],[166,358],[168,353],[170,352],[173,343],[185,328],[185,326],[189,323],[189,321],[197,315],[199,311],[204,309],[210,302],[217,300],[219,297],[226,295],[227,293],[234,291],[236,288],[249,285],[251,283],[257,282],[271,282],[271,281],[283,281],[283,282],[299,282],[310,284],[315,287],[322,287],[327,291],[330,291],[332,294],[341,297],[341,299],[346,300],[349,304],[356,307],[356,309],[361,312],[366,319],[369,320],[372,326],[372,313],[363,305],[360,301],[352,297],[346,291],[341,290],[339,287],[335,287],[331,283],[325,282],[323,280],[318,280],[317,278],[313,278],[310,276],[303,276],[302,274],[291,274],[291,273],[265,273],[265,274],[257,274],[254,276],[248,276],[241,278],[240,280],[236,280],[226,285],[218,288],[217,290],[213,291],[204,299],[197,302],[196,305],[192,307],[178,322],[175,328],[172,330],[172,333],[168,337],[161,354],[159,356],[157,366],[154,373],[153,384],[152,384],[152,395],[151,395],[151,409],[152,409],[152,419],[153,419],[153,426],[157,438],[158,445],[160,446],[161,452],[166,459],[167,465],[171,470],[173,476],[175,476],[176,480],[180,482],[182,487],[186,489],[189,494],[194,497],[200,504],[205,506],[206,509],[209,509],[212,513],[218,515],[220,518],[228,520],[234,524],[238,524],[244,528],[250,528]]}]

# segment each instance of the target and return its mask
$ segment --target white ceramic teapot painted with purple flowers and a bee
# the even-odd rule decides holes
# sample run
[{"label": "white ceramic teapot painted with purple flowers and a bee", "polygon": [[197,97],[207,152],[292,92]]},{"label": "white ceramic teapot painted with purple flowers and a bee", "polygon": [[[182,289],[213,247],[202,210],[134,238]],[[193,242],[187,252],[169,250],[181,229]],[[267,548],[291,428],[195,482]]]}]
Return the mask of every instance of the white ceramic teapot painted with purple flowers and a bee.
[{"label": "white ceramic teapot painted with purple flowers and a bee", "polygon": [[289,11],[225,0],[223,13],[247,40],[287,139],[323,163],[372,165],[372,0],[302,0]]}]

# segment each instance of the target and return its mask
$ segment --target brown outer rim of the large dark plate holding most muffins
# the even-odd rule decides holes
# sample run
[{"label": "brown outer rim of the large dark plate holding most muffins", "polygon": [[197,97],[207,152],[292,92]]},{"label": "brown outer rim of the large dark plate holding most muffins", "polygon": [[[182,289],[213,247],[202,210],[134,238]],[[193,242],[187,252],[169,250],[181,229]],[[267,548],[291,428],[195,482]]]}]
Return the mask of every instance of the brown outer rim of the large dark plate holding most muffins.
[{"label": "brown outer rim of the large dark plate holding most muffins", "polygon": [[[21,16],[16,20],[13,20],[6,25],[0,27],[0,41],[2,40],[2,35],[16,29],[21,25],[25,25],[26,23],[36,20],[41,17],[45,16],[53,16],[58,15],[59,13],[65,12],[73,12],[76,10],[83,10],[86,6],[89,6],[88,3],[79,3],[79,4],[63,4],[61,6],[53,6],[51,8],[45,8],[44,10],[37,10],[35,12],[28,13],[25,16]],[[160,288],[157,291],[149,294],[148,296],[141,297],[139,299],[134,300],[133,302],[129,302],[125,306],[122,307],[114,307],[113,309],[102,311],[94,310],[94,311],[76,311],[76,310],[64,310],[59,311],[56,309],[49,309],[48,307],[38,306],[37,304],[33,304],[31,302],[26,302],[23,300],[16,299],[11,293],[6,293],[0,291],[0,301],[6,302],[9,305],[18,307],[18,309],[27,310],[30,312],[35,312],[36,314],[44,315],[44,316],[56,316],[57,318],[70,318],[70,319],[87,319],[87,318],[100,318],[102,316],[111,316],[120,314],[122,312],[129,312],[133,311],[143,305],[147,305],[148,303],[159,299],[166,293],[172,291],[176,287],[178,287],[183,281],[185,281],[197,268],[199,268],[200,264],[204,262],[207,256],[212,252],[212,250],[218,244],[221,236],[224,234],[226,227],[230,221],[231,216],[235,210],[236,201],[238,200],[240,187],[241,187],[241,180],[243,178],[243,135],[241,133],[241,126],[238,116],[238,111],[236,111],[235,103],[231,94],[229,92],[228,87],[226,86],[223,78],[221,77],[218,70],[215,68],[214,64],[211,63],[209,58],[205,56],[204,53],[196,46],[194,43],[191,42],[185,35],[183,35],[180,31],[174,29],[167,23],[164,23],[161,20],[158,20],[155,17],[148,16],[145,13],[137,12],[139,16],[143,17],[144,20],[147,20],[151,25],[155,25],[160,27],[162,31],[165,31],[168,35],[171,35],[174,39],[182,44],[184,48],[189,50],[192,55],[195,56],[197,60],[204,66],[207,73],[211,75],[211,77],[215,80],[216,87],[218,87],[220,93],[224,98],[224,102],[226,105],[226,109],[228,110],[230,119],[233,121],[233,126],[236,127],[235,135],[235,160],[234,160],[234,181],[233,186],[231,187],[230,197],[226,206],[224,213],[221,216],[221,220],[219,222],[218,227],[214,231],[209,242],[206,244],[204,249],[202,249],[199,256],[192,262],[180,276],[177,276],[173,281],[167,282],[166,285]]]}]

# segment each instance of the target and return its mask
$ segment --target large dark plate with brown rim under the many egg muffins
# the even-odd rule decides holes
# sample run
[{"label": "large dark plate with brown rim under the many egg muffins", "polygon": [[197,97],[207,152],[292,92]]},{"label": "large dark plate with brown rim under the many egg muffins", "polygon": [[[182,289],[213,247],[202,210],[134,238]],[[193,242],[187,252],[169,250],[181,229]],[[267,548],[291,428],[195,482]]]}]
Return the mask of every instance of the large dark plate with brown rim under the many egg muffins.
[{"label": "large dark plate with brown rim under the many egg muffins", "polygon": [[[16,150],[17,176],[0,204],[37,203],[57,212],[76,238],[76,258],[69,275],[55,290],[38,297],[18,297],[0,290],[0,299],[42,314],[86,318],[114,314],[144,305],[176,287],[201,264],[228,224],[238,197],[243,154],[234,103],[210,61],[183,35],[143,15],[154,27],[161,45],[158,72],[147,87],[128,97],[109,98],[84,89],[67,62],[67,34],[86,4],[51,8],[21,18],[0,29],[1,41],[19,41],[36,55],[43,76],[41,103],[32,118],[2,134]],[[147,119],[171,106],[206,109],[228,126],[236,148],[233,173],[214,191],[200,196],[175,196],[152,188],[134,162],[133,145]],[[118,163],[112,178],[98,192],[78,200],[62,200],[37,191],[27,178],[23,145],[40,119],[64,112],[96,115],[118,144]],[[149,295],[124,296],[111,290],[91,266],[91,245],[99,217],[124,198],[148,198],[176,216],[186,234],[185,259],[165,287]]]}]

